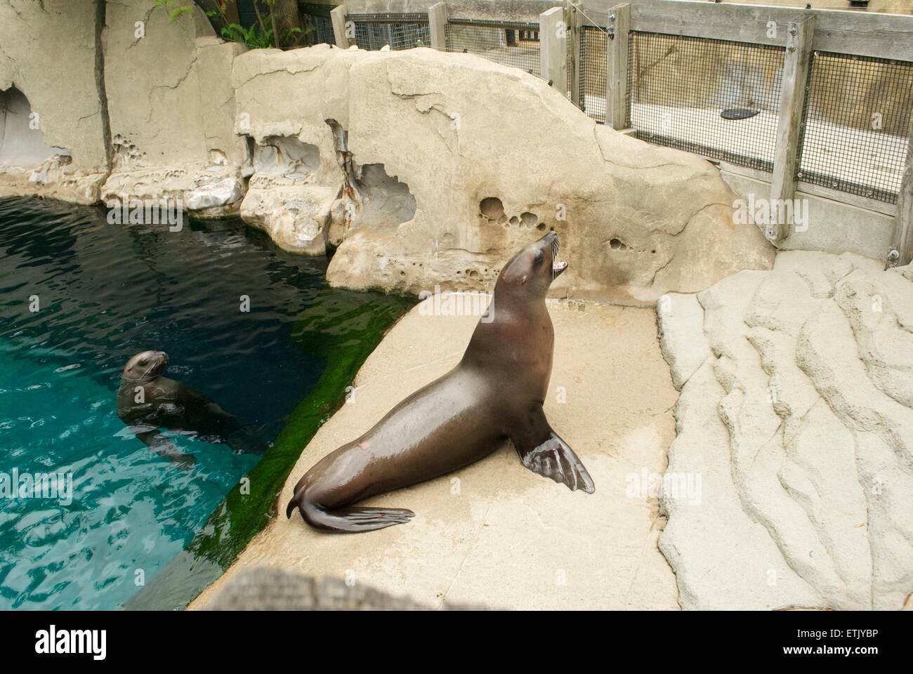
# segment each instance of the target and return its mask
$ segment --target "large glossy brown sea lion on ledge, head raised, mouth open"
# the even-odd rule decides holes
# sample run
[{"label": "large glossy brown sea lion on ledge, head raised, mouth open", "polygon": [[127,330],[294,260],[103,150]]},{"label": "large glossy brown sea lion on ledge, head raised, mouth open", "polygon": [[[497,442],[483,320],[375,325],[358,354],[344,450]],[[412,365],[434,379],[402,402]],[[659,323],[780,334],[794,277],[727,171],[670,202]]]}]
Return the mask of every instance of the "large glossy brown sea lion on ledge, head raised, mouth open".
[{"label": "large glossy brown sea lion on ledge, head raised, mouth open", "polygon": [[542,411],[554,332],[545,295],[567,269],[550,232],[498,274],[489,315],[449,373],[396,405],[362,437],[314,465],[295,486],[286,514],[325,532],[370,532],[415,514],[352,503],[463,468],[509,437],[523,465],[571,490],[593,479]]}]

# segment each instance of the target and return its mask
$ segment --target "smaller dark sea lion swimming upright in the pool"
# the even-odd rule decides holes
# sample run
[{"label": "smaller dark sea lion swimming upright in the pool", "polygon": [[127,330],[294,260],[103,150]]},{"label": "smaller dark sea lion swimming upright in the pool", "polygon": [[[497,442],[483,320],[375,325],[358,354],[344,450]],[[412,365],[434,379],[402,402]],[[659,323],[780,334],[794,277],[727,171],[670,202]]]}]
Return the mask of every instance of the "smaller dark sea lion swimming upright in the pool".
[{"label": "smaller dark sea lion swimming upright in the pool", "polygon": [[159,428],[168,428],[192,431],[201,440],[225,443],[237,453],[265,449],[245,433],[235,416],[190,386],[162,376],[167,367],[167,353],[144,351],[134,355],[121,374],[117,416],[148,448],[182,468],[192,467],[194,456],[176,448],[159,432]]}]

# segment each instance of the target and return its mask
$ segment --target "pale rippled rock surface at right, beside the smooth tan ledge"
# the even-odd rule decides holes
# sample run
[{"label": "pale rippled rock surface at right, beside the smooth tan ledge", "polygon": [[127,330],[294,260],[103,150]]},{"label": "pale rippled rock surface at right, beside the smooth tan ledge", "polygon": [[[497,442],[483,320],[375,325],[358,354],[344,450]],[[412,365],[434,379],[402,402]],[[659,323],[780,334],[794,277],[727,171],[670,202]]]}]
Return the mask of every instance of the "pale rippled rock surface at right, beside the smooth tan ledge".
[{"label": "pale rippled rock surface at right, beside the smooth tan ledge", "polygon": [[[685,608],[899,609],[913,591],[913,282],[781,253],[659,302],[681,396],[660,549]],[[696,325],[701,325],[698,333]],[[712,352],[705,357],[708,349]]]}]

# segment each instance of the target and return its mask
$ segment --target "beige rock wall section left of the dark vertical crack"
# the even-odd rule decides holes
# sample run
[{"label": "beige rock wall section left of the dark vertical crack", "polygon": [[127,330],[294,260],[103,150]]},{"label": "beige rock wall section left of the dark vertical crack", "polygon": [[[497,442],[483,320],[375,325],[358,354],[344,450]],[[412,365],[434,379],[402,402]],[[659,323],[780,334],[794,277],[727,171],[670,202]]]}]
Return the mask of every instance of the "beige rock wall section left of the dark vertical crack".
[{"label": "beige rock wall section left of the dark vertical crack", "polygon": [[0,195],[98,199],[107,171],[99,28],[93,0],[0,3]]}]

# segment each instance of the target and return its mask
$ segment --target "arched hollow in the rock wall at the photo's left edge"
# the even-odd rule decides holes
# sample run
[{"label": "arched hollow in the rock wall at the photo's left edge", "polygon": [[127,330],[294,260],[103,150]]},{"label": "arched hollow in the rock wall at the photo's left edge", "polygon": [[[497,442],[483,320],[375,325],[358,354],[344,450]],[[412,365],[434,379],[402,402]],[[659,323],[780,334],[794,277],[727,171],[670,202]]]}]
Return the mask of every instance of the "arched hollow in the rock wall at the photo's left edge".
[{"label": "arched hollow in the rock wall at the photo's left edge", "polygon": [[0,91],[0,166],[34,169],[55,154],[69,156],[45,144],[40,118],[32,115],[26,95],[16,87]]}]

